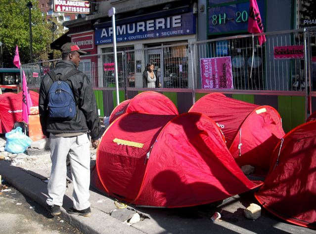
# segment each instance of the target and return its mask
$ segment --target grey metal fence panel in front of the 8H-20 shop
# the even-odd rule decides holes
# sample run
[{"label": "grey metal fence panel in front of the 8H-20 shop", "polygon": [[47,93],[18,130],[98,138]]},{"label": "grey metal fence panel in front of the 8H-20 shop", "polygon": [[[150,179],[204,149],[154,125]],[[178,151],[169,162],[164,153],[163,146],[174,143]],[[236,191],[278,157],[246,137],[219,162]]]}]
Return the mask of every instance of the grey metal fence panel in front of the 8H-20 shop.
[{"label": "grey metal fence panel in front of the 8H-20 shop", "polygon": [[[302,45],[303,32],[287,31],[266,34],[259,45],[258,36],[236,36],[193,44],[194,61],[201,58],[230,56],[233,86],[238,90],[304,90],[304,60],[274,59],[274,47]],[[200,68],[195,67],[200,81]],[[201,87],[198,83],[197,87]]]}]

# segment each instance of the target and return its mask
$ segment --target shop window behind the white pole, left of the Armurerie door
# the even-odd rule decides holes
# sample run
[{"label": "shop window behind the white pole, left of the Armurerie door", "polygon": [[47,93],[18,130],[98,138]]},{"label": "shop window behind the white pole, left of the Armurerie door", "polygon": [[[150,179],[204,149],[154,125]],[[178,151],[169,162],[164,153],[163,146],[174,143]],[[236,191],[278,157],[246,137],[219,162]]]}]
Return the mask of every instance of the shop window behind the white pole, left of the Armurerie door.
[{"label": "shop window behind the white pole, left of the Armurerie door", "polygon": [[[135,52],[134,46],[117,47],[117,65],[119,87],[124,87],[128,82],[129,87],[135,87]],[[119,53],[124,51],[124,53]],[[103,55],[103,85],[104,87],[115,87],[114,55],[113,47],[102,48]]]}]

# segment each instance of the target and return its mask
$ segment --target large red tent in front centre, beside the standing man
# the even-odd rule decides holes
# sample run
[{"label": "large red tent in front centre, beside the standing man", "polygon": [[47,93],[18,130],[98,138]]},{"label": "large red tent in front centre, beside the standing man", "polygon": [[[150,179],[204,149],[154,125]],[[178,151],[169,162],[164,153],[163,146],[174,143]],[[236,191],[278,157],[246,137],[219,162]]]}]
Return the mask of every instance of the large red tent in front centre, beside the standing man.
[{"label": "large red tent in front centre, beside the standing man", "polygon": [[255,188],[226,148],[216,123],[198,113],[126,113],[97,150],[98,180],[111,196],[143,206],[210,203]]}]

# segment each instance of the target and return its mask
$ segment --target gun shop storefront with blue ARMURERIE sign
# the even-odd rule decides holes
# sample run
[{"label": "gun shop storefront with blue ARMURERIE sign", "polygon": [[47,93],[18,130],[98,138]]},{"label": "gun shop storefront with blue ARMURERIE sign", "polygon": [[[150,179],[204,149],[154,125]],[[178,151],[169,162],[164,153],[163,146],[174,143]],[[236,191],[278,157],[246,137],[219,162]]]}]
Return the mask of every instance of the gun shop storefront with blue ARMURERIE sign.
[{"label": "gun shop storefront with blue ARMURERIE sign", "polygon": [[[196,41],[196,15],[187,6],[180,8],[137,17],[127,15],[116,21],[120,87],[125,77],[129,87],[143,87],[142,74],[148,63],[154,64],[162,87],[188,87],[187,43]],[[111,64],[114,62],[112,22],[94,27],[97,52],[105,53],[99,64]],[[113,87],[113,71],[105,70],[103,77],[99,77],[99,87]]]}]

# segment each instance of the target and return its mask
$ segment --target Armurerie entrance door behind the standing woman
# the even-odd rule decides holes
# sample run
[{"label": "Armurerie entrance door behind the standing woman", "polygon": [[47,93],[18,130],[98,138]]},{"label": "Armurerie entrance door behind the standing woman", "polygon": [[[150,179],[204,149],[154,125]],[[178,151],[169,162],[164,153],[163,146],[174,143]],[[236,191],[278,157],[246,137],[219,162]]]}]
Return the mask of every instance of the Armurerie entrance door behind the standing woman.
[{"label": "Armurerie entrance door behind the standing woman", "polygon": [[154,72],[157,76],[157,79],[161,83],[161,87],[163,87],[163,53],[162,49],[149,49],[146,50],[146,65],[148,63],[152,63],[154,67]]}]

